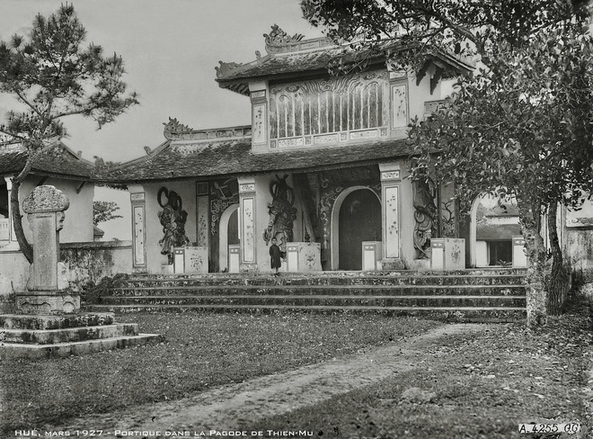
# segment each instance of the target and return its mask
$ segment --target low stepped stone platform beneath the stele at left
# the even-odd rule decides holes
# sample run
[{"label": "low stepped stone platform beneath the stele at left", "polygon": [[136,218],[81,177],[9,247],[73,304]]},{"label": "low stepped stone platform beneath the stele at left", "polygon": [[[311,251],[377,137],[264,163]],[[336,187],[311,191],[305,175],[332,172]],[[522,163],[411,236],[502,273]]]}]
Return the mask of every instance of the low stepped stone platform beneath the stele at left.
[{"label": "low stepped stone platform beneath the stele at left", "polygon": [[111,312],[0,315],[0,358],[82,355],[158,340],[137,324],[115,323]]}]

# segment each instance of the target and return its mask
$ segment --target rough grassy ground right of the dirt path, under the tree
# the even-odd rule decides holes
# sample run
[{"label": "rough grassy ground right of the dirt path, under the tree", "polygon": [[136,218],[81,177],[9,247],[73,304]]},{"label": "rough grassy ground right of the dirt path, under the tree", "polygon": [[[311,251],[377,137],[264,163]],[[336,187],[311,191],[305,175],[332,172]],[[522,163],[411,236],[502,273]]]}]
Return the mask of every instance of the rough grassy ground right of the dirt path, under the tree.
[{"label": "rough grassy ground right of the dirt path, under the tree", "polygon": [[[411,372],[240,429],[418,439],[527,437],[518,434],[518,424],[529,422],[577,421],[585,430],[583,389],[593,386],[585,374],[593,354],[590,329],[589,305],[580,299],[536,333],[507,324],[473,336],[447,336]],[[411,388],[433,392],[434,398],[404,399]]]}]

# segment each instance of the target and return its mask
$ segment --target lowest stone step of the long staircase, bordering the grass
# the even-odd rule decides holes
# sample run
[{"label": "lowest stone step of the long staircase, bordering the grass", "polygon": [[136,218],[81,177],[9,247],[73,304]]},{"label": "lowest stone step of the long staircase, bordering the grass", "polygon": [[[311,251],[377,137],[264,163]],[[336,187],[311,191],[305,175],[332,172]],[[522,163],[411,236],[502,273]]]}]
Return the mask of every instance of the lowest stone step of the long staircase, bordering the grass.
[{"label": "lowest stone step of the long staircase, bordering the grass", "polygon": [[526,318],[525,307],[341,307],[341,306],[295,306],[295,305],[93,305],[95,311],[110,310],[116,314],[136,312],[232,312],[270,313],[278,311],[302,311],[318,313],[370,313],[393,316],[417,316],[453,321],[516,321]]}]

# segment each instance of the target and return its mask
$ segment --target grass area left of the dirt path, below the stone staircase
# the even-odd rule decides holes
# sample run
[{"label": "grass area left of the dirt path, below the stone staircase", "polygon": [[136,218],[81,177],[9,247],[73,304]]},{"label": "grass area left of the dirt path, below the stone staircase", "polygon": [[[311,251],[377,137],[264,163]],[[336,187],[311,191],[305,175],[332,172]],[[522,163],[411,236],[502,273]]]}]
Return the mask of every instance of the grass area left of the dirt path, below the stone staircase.
[{"label": "grass area left of the dirt path, below the stone staircase", "polygon": [[440,324],[348,314],[136,314],[158,345],[42,361],[0,361],[0,431],[181,399],[212,386],[320,363]]}]

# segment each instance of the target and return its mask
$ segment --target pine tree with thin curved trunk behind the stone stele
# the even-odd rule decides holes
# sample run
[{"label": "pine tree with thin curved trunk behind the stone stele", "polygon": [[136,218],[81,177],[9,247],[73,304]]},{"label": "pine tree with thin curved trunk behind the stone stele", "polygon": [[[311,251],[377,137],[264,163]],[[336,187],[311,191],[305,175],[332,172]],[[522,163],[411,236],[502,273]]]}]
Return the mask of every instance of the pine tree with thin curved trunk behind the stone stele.
[{"label": "pine tree with thin curved trunk behind the stone stele", "polygon": [[4,115],[0,133],[27,150],[22,171],[13,177],[11,207],[14,232],[27,260],[32,248],[22,230],[19,188],[36,160],[56,149],[66,136],[64,118],[92,118],[100,129],[137,103],[121,80],[122,59],[103,57],[101,46],[84,48],[86,31],[72,4],[63,4],[48,18],[38,14],[26,37],[0,42],[0,92],[19,105]]}]

